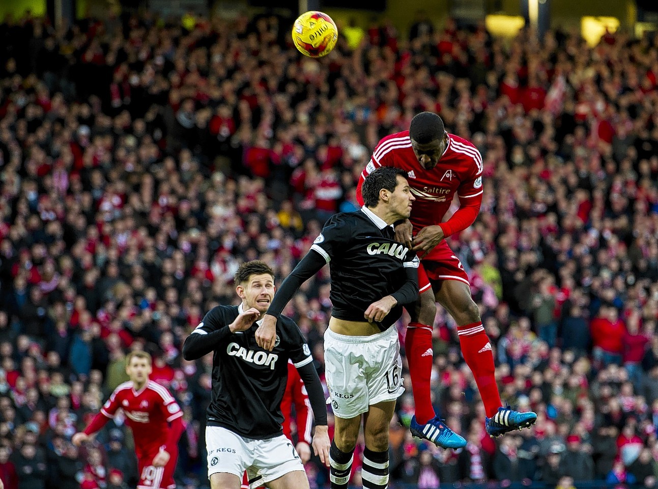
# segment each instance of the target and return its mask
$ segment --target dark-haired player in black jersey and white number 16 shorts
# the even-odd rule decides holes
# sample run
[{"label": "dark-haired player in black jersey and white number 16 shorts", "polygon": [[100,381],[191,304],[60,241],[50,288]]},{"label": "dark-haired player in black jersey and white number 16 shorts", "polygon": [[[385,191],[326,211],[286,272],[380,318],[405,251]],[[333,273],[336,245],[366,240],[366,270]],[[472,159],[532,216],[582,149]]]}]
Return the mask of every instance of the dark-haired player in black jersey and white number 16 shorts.
[{"label": "dark-haired player in black jersey and white number 16 shorts", "polygon": [[[418,258],[395,242],[393,223],[415,200],[407,173],[382,167],[363,183],[365,206],[336,214],[284,280],[256,332],[271,349],[280,314],[297,289],[329,264],[332,316],[324,333],[325,375],[336,420],[329,452],[332,488],[347,488],[353,451],[366,414],[361,476],[368,488],[388,486],[388,426],[404,391],[399,340],[392,324],[418,297]],[[278,319],[277,319],[278,318]]]}]

